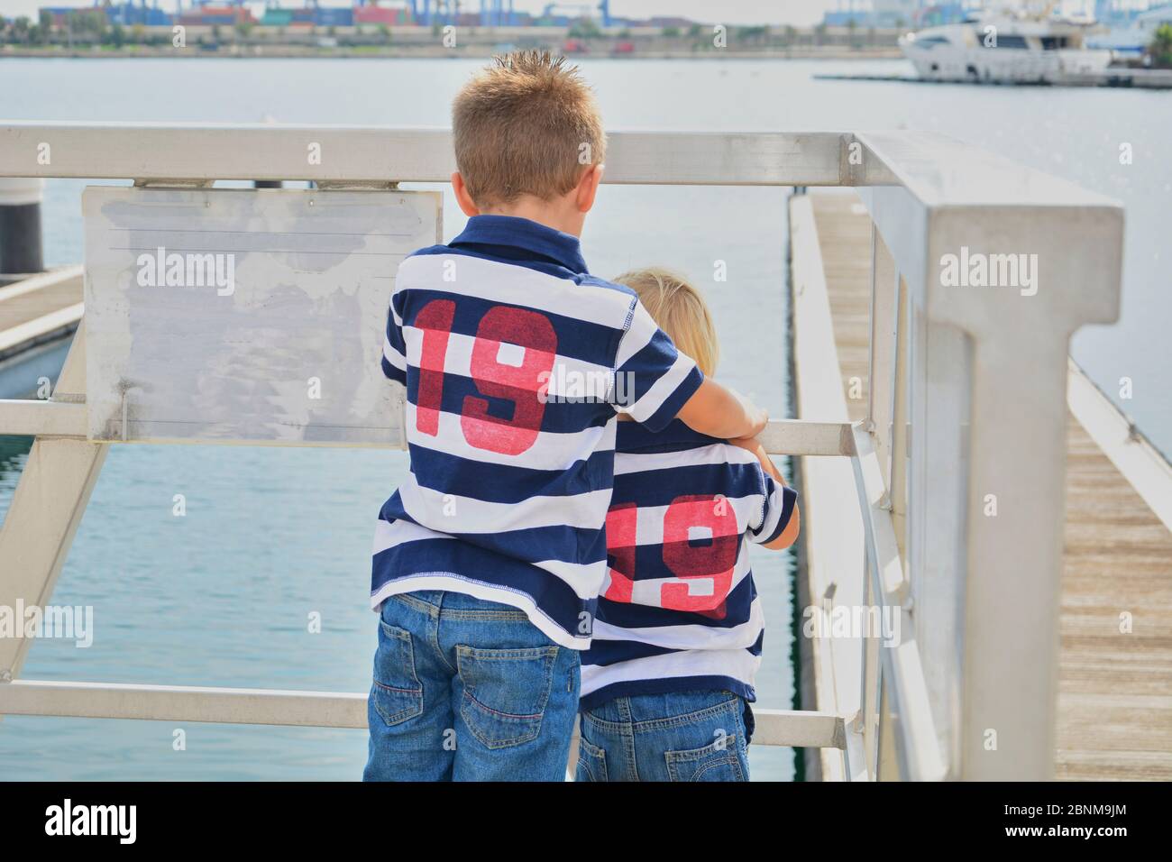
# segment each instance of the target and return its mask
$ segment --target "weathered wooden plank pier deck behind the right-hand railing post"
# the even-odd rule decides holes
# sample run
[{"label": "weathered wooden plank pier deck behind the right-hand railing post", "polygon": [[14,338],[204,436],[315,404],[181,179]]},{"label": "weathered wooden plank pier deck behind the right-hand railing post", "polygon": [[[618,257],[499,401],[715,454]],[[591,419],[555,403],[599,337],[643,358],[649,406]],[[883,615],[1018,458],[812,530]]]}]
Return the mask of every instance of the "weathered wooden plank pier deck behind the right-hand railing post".
[{"label": "weathered wooden plank pier deck behind the right-hand railing post", "polygon": [[[871,222],[853,192],[810,199],[838,376],[854,421],[865,418],[867,406]],[[800,317],[795,326],[800,330]],[[800,368],[797,376],[800,385]],[[858,395],[850,392],[851,378],[863,381],[861,398],[851,398]],[[1078,378],[1072,371],[1072,387]],[[799,410],[800,405],[799,394]],[[818,490],[813,482],[804,488],[803,521],[817,509],[810,497]],[[1065,505],[1055,774],[1172,780],[1172,531],[1074,414],[1067,426]],[[1167,507],[1156,508],[1166,520]],[[808,549],[812,557],[819,552]],[[817,596],[825,584],[804,586]],[[1131,615],[1130,632],[1120,631],[1122,615]],[[822,674],[822,698],[825,668],[815,673]]]}]

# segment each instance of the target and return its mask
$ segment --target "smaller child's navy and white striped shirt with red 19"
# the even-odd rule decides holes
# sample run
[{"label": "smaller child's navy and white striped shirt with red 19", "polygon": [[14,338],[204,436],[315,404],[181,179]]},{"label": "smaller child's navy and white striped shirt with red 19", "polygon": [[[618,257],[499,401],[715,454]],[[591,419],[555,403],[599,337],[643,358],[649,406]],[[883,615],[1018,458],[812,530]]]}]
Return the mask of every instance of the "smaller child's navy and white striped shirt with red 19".
[{"label": "smaller child's navy and white striped shirt with red 19", "polygon": [[752,453],[679,420],[659,433],[619,422],[581,708],[709,688],[755,700],[764,619],[748,545],[782,535],[796,500]]}]

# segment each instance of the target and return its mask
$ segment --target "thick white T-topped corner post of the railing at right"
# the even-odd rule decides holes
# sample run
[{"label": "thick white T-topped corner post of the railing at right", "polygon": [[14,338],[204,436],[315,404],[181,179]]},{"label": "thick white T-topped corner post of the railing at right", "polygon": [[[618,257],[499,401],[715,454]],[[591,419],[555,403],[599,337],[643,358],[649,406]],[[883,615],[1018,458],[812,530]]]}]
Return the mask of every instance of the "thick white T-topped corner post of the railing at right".
[{"label": "thick white T-topped corner post of the railing at right", "polygon": [[858,138],[894,178],[861,194],[911,303],[905,617],[940,754],[953,778],[1047,780],[1064,368],[1078,327],[1118,318],[1123,209],[946,138]]}]

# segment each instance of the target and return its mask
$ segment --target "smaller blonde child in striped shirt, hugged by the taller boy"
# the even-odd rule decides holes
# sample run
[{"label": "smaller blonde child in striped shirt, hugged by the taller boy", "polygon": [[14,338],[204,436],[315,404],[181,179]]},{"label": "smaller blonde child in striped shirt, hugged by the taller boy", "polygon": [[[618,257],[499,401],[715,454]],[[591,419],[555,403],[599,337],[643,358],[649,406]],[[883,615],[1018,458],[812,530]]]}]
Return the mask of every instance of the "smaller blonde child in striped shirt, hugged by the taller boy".
[{"label": "smaller blonde child in striped shirt, hugged by the taller boy", "polygon": [[[700,292],[662,269],[615,281],[706,376]],[[797,495],[754,439],[619,422],[607,579],[582,653],[579,781],[747,781],[764,620],[749,543],[797,538]]]}]

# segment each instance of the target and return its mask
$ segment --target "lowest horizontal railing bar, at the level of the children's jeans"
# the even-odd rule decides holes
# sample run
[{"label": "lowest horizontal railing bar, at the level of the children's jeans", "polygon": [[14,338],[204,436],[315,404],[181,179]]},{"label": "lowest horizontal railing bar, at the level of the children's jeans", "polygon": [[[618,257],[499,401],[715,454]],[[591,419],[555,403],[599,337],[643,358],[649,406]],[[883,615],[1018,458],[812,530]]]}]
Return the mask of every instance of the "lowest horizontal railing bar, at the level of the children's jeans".
[{"label": "lowest horizontal railing bar, at the level of the children's jeans", "polygon": [[[0,684],[0,715],[196,721],[289,727],[367,727],[367,695],[214,686],[18,679]],[[758,745],[839,748],[838,715],[756,710]]]}]

